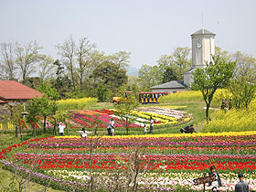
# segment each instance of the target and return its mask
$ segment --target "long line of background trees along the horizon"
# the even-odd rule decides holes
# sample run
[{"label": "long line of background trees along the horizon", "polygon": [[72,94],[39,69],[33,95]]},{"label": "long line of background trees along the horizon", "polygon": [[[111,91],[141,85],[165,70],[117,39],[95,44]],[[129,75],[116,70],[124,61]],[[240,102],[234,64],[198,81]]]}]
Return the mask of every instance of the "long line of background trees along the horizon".
[{"label": "long line of background trees along the horizon", "polygon": [[[192,67],[188,47],[174,48],[170,54],[160,56],[154,66],[142,65],[138,77],[127,75],[131,52],[107,55],[88,37],[79,41],[68,37],[55,48],[58,59],[42,54],[43,47],[37,41],[23,45],[1,42],[0,80],[19,80],[35,89],[41,82],[48,83],[59,91],[60,98],[97,97],[99,101],[110,101],[116,92],[122,95],[124,91],[133,91],[137,96],[157,84],[183,80],[184,72]],[[251,55],[216,47],[216,56],[236,62],[233,80],[255,80],[256,59]]]}]

